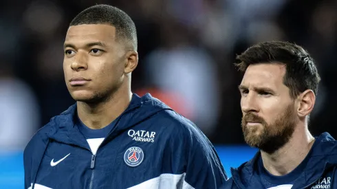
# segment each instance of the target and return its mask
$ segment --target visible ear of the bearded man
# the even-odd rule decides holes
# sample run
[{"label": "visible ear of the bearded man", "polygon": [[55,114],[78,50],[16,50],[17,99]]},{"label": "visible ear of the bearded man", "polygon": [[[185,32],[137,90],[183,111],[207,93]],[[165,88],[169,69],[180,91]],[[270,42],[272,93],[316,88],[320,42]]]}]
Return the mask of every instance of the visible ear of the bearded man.
[{"label": "visible ear of the bearded man", "polygon": [[312,109],[314,109],[315,101],[316,96],[314,91],[307,89],[301,93],[301,95],[298,96],[298,116],[305,117],[306,115],[309,115],[312,112]]}]

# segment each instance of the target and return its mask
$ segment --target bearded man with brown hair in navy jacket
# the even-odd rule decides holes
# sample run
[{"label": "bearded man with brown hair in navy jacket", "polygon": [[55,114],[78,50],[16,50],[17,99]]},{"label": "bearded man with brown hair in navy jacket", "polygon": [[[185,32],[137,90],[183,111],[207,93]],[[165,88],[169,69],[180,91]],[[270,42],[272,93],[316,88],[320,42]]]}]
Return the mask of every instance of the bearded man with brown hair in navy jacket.
[{"label": "bearded man with brown hair in navy jacket", "polygon": [[[271,41],[237,56],[243,136],[259,152],[222,188],[336,188],[337,143],[308,130],[320,76],[298,45]],[[335,176],[336,175],[336,176]]]}]

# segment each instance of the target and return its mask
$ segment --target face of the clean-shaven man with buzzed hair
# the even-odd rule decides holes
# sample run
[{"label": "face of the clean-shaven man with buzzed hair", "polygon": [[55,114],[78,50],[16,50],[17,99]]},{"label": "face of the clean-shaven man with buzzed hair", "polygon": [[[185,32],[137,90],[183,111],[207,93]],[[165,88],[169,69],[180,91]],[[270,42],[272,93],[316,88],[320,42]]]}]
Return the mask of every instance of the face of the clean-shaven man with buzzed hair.
[{"label": "face of the clean-shaven man with buzzed hair", "polygon": [[116,42],[116,28],[89,24],[69,27],[65,37],[65,82],[76,101],[108,98],[122,84],[125,49]]}]

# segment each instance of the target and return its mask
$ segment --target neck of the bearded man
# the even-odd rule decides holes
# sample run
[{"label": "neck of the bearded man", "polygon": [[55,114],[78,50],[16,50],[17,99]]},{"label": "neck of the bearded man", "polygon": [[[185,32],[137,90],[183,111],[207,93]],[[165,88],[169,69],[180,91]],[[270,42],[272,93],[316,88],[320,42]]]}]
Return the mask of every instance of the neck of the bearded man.
[{"label": "neck of the bearded man", "polygon": [[272,175],[286,175],[303,162],[312,144],[314,137],[307,130],[307,126],[296,126],[292,138],[285,146],[272,154],[261,151],[263,166]]}]

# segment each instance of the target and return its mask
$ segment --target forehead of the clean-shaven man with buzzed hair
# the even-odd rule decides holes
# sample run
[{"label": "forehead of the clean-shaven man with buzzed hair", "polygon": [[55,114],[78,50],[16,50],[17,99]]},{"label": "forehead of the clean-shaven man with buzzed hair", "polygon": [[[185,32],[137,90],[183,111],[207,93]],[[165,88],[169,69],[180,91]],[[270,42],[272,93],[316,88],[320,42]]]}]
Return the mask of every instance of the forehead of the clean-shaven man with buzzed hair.
[{"label": "forehead of the clean-shaven man with buzzed hair", "polygon": [[72,25],[65,36],[65,43],[87,43],[102,41],[113,43],[116,37],[116,27],[107,24]]}]

